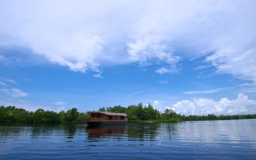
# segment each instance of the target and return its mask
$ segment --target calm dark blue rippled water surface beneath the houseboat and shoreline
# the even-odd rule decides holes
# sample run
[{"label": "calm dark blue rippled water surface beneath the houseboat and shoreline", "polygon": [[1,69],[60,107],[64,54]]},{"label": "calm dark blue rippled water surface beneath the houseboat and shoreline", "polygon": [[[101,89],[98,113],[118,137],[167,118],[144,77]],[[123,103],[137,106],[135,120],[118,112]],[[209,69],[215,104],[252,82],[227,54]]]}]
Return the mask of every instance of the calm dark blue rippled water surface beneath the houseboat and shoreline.
[{"label": "calm dark blue rippled water surface beneath the houseboat and shoreline", "polygon": [[0,159],[256,160],[256,119],[128,124],[0,124]]}]

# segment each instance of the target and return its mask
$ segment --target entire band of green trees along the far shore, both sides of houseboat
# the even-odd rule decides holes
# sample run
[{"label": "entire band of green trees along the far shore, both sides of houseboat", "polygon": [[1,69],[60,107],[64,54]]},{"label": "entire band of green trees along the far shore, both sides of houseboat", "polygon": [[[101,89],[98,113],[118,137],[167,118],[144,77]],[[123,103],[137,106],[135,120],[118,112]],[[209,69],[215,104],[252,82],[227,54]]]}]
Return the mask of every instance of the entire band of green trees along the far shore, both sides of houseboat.
[{"label": "entire band of green trees along the far shore, both sides of houseboat", "polygon": [[[248,115],[232,115],[232,116],[216,116],[214,114],[208,114],[206,116],[195,115],[181,115],[177,114],[171,109],[166,109],[164,112],[160,112],[153,108],[152,105],[147,104],[143,106],[142,103],[138,105],[131,105],[128,107],[114,106],[114,107],[102,107],[99,111],[107,112],[124,112],[128,115],[128,121],[140,122],[140,121],[155,121],[155,122],[179,122],[179,121],[191,121],[191,120],[233,120],[233,119],[252,119],[256,118],[256,114]],[[56,113],[54,111],[45,111],[38,109],[35,112],[26,111],[22,108],[16,108],[15,106],[0,107],[0,122],[29,122],[29,123],[85,123],[86,118],[90,118],[90,115],[84,112],[78,112],[76,108],[61,111]]]}]

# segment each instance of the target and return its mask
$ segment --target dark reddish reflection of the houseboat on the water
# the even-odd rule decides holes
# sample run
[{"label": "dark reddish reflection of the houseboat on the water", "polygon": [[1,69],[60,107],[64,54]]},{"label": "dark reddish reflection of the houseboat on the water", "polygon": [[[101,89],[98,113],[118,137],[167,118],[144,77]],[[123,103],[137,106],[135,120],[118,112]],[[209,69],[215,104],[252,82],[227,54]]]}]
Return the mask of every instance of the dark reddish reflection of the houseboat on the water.
[{"label": "dark reddish reflection of the houseboat on the water", "polygon": [[127,125],[87,126],[88,138],[117,137],[127,134]]}]

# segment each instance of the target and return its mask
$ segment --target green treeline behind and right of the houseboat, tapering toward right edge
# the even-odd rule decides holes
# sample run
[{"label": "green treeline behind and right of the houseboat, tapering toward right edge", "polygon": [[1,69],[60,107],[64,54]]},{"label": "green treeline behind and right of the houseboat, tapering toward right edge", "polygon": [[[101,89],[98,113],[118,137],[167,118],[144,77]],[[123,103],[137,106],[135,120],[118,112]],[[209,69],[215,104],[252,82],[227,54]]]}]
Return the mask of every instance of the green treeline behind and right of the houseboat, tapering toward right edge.
[{"label": "green treeline behind and right of the houseboat, tapering toward right edge", "polygon": [[181,115],[177,114],[171,109],[166,108],[164,112],[160,112],[153,108],[151,104],[147,104],[143,107],[142,103],[138,105],[131,105],[126,107],[114,106],[114,107],[102,107],[99,111],[107,112],[123,112],[128,116],[129,121],[157,121],[157,122],[179,122],[179,121],[192,121],[192,120],[236,120],[236,119],[253,119],[256,118],[256,114],[248,115],[233,115],[233,116],[216,116],[214,114],[208,114],[207,116],[195,116],[195,115]]}]

